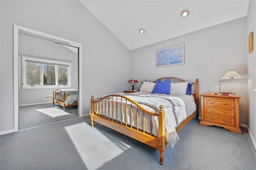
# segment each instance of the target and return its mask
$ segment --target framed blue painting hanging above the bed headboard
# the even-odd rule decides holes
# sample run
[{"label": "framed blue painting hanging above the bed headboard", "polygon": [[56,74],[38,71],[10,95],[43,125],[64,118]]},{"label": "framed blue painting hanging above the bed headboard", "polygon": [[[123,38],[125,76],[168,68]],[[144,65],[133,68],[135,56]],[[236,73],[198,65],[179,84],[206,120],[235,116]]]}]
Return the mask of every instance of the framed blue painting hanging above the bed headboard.
[{"label": "framed blue painting hanging above the bed headboard", "polygon": [[156,67],[184,64],[185,43],[156,49]]}]

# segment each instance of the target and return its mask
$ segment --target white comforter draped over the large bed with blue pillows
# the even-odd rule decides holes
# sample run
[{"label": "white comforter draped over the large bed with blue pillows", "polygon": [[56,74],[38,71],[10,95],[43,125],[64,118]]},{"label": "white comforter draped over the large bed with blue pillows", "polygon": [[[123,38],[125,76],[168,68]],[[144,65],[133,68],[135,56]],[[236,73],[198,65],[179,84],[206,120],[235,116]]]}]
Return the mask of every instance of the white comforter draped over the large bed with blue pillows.
[{"label": "white comforter draped over the large bed with blue pillows", "polygon": [[[148,92],[134,92],[132,95],[152,95]],[[127,95],[127,94],[126,94]],[[186,117],[191,115],[196,110],[196,104],[194,102],[194,97],[189,95],[166,95],[166,94],[154,94],[158,96],[168,96],[168,98],[176,98],[180,102],[180,106],[170,107],[170,108],[164,108],[165,111],[165,133],[166,133],[166,142],[168,145],[170,145],[171,148],[174,147],[174,145],[178,142],[179,136],[176,132],[176,127],[184,120]],[[126,96],[129,98],[129,96]],[[120,102],[118,102],[118,105],[120,105]],[[114,102],[114,113],[116,113],[116,106]],[[128,104],[128,103],[127,103]],[[104,105],[104,103],[103,103]],[[125,106],[125,104],[123,104]],[[159,111],[156,110],[153,107],[147,106],[145,104],[141,104],[145,109],[151,112],[158,113]],[[103,106],[104,108],[104,106]],[[120,109],[120,107],[118,107]],[[125,123],[125,108],[123,108],[122,111],[122,122]],[[109,117],[112,118],[112,106],[110,109],[110,115]],[[101,110],[98,111],[101,114]],[[118,111],[118,121],[120,120],[120,110]],[[128,113],[130,113],[130,107],[128,107]],[[133,119],[132,119],[132,125],[136,127],[136,107],[133,106]],[[108,116],[108,109],[106,110],[106,116]],[[113,115],[113,118],[116,119],[116,114]],[[130,125],[130,114],[127,117],[127,123]],[[142,129],[143,127],[143,113],[139,112],[139,129]],[[145,131],[150,133],[150,116],[148,114],[145,115]],[[158,116],[152,116],[152,135],[155,135],[158,137]]]}]

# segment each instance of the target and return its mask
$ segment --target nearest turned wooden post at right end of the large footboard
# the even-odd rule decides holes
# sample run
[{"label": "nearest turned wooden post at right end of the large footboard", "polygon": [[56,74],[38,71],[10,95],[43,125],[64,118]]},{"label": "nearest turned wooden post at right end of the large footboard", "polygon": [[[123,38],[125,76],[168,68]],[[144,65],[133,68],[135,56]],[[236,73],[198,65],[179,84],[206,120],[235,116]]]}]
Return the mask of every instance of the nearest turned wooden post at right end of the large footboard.
[{"label": "nearest turned wooden post at right end of the large footboard", "polygon": [[159,117],[158,117],[158,150],[160,156],[160,164],[164,164],[164,150],[165,150],[165,116],[164,106],[160,106]]}]

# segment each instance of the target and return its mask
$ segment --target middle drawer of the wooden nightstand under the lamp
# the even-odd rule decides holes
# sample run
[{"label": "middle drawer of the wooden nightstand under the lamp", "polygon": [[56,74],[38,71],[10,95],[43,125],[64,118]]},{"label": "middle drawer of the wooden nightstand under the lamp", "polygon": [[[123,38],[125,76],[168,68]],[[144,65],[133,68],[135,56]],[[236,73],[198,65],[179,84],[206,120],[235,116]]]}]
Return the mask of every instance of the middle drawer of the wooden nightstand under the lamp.
[{"label": "middle drawer of the wooden nightstand under the lamp", "polygon": [[213,106],[204,106],[204,112],[210,113],[214,115],[222,115],[222,116],[229,116],[234,117],[235,109],[229,107],[213,107]]}]

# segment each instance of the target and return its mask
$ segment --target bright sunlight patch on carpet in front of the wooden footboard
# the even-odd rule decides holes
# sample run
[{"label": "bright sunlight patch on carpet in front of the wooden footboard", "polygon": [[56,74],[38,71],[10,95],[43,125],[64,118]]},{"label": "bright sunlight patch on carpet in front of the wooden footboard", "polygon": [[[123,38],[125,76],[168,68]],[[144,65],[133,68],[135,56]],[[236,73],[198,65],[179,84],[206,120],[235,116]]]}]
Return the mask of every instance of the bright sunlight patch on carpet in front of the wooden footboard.
[{"label": "bright sunlight patch on carpet in front of the wooden footboard", "polygon": [[[76,150],[80,154],[81,159],[89,170],[98,169],[103,166],[104,163],[130,148],[129,145],[126,145],[121,141],[104,136],[96,128],[93,128],[86,123],[68,126],[65,127],[65,129],[74,143]],[[101,147],[97,148],[96,143]]]}]

